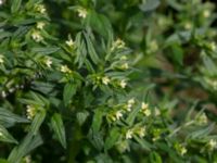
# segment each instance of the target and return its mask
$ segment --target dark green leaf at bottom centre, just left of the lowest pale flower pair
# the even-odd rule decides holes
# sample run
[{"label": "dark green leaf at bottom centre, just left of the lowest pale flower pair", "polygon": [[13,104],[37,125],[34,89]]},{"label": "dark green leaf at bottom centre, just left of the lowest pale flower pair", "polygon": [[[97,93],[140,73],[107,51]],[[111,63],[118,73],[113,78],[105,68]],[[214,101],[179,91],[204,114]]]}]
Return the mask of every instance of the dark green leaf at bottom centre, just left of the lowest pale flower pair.
[{"label": "dark green leaf at bottom centre, just left of the lowest pale flower pair", "polygon": [[110,129],[108,137],[105,139],[104,149],[105,150],[111,149],[117,142],[119,136],[120,131],[117,127]]}]

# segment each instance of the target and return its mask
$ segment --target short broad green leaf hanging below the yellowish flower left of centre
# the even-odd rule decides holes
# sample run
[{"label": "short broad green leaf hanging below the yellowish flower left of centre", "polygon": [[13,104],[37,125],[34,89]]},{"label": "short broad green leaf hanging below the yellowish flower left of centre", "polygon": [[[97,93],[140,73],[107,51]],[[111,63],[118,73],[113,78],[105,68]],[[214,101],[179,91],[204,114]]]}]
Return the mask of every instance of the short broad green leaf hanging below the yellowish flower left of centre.
[{"label": "short broad green leaf hanging below the yellowish flower left of centre", "polygon": [[65,85],[63,90],[63,101],[65,105],[67,105],[71,102],[73,96],[76,93],[76,90],[77,90],[76,84],[69,83]]}]

